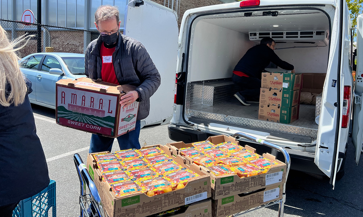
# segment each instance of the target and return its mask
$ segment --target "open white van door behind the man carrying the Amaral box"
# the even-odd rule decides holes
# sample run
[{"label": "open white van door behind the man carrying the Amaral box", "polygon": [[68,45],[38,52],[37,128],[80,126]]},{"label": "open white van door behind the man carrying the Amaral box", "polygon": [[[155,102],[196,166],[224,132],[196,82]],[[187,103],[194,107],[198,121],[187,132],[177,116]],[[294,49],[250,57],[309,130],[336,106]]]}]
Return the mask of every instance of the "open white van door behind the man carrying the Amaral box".
[{"label": "open white van door behind the man carrying the Amaral box", "polygon": [[124,32],[140,41],[159,70],[161,85],[150,99],[150,115],[141,127],[167,124],[173,115],[178,21],[175,11],[149,0],[134,0],[127,5]]}]

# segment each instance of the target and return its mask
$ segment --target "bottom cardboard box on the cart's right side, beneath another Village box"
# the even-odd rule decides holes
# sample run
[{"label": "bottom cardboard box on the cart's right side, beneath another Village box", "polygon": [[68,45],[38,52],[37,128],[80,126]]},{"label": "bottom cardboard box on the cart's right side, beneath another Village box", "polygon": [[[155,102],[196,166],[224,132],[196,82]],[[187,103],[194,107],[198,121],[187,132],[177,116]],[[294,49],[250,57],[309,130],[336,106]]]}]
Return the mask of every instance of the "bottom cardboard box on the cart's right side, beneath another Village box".
[{"label": "bottom cardboard box on the cart's right side, beneath another Village box", "polygon": [[262,188],[247,195],[232,195],[212,200],[212,216],[225,217],[282,199],[283,185]]}]

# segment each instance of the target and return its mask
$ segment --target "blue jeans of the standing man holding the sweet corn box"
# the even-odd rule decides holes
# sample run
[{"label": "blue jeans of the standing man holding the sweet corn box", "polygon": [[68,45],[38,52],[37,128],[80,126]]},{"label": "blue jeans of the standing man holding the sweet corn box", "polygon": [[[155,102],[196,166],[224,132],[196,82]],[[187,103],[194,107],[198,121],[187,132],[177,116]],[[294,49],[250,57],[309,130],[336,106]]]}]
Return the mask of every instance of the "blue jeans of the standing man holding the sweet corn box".
[{"label": "blue jeans of the standing man holding the sweet corn box", "polygon": [[[131,148],[140,149],[141,146],[139,142],[139,135],[140,135],[140,121],[137,120],[135,130],[132,130],[126,134],[117,137],[117,142],[120,147],[120,150],[127,150]],[[92,134],[89,153],[95,153],[101,151],[111,152],[113,142],[114,138]]]}]

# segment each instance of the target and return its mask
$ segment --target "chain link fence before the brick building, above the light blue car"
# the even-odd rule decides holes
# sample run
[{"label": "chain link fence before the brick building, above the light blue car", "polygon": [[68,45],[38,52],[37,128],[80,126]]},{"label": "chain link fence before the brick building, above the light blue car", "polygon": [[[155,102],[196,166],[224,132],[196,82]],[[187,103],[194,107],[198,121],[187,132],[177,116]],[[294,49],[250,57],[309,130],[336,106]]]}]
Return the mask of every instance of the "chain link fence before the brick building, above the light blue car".
[{"label": "chain link fence before the brick building, above the light blue car", "polygon": [[[32,53],[37,53],[38,24],[0,19],[0,25],[8,33],[9,40],[14,40],[24,34],[34,35],[28,44],[18,51],[21,58]],[[99,36],[97,31],[40,25],[41,52],[84,53],[87,45]]]}]

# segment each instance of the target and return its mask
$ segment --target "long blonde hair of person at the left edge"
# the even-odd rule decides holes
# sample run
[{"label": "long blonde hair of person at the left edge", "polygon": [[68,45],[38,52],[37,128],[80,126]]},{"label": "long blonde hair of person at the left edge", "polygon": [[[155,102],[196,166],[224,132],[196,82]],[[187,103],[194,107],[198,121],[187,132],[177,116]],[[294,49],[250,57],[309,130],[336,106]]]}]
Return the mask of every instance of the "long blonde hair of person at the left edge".
[{"label": "long blonde hair of person at the left edge", "polygon": [[[23,35],[12,42],[9,41],[5,30],[0,26],[0,105],[18,106],[24,102],[26,95],[26,85],[21,73],[18,61],[20,58],[15,51],[23,48],[29,41],[30,37]],[[26,40],[26,41],[25,41]],[[15,48],[21,42],[25,41],[22,46]],[[9,90],[5,90],[7,83],[10,85]]]}]

